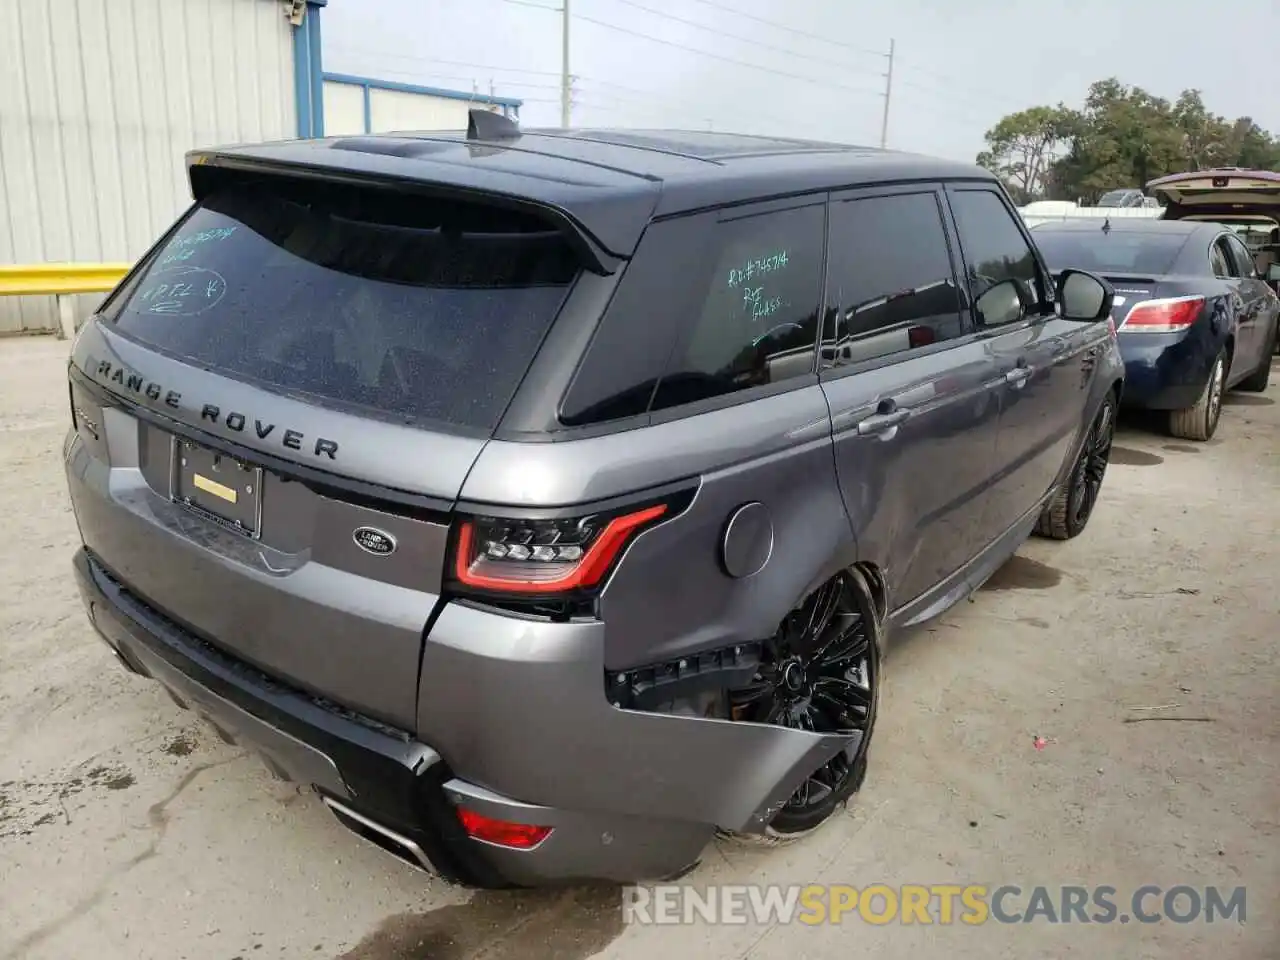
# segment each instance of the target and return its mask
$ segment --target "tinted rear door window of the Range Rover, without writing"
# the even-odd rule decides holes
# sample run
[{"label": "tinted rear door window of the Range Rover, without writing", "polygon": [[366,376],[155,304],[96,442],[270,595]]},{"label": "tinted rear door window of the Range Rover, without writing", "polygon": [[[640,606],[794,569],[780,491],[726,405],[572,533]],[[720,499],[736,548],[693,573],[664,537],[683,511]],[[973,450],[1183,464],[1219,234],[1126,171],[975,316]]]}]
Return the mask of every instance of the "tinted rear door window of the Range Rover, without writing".
[{"label": "tinted rear door window of the Range Rover, without writing", "polygon": [[856,364],[959,337],[960,310],[933,192],[831,205],[824,365]]}]

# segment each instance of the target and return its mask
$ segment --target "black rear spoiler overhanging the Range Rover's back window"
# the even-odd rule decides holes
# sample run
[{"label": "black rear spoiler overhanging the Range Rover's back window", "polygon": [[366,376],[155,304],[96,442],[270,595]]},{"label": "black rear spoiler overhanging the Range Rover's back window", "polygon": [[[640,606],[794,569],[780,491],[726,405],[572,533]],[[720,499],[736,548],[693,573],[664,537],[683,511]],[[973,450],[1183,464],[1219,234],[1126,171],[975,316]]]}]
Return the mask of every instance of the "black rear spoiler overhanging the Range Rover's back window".
[{"label": "black rear spoiler overhanging the Range Rover's back window", "polygon": [[[618,256],[605,250],[591,232],[564,207],[500,191],[481,189],[443,180],[425,180],[387,173],[351,170],[321,164],[237,156],[216,150],[188,151],[186,154],[186,163],[191,195],[196,202],[229,184],[269,177],[315,179],[370,188],[412,191],[415,193],[436,195],[454,200],[493,204],[539,216],[564,234],[584,266],[595,274],[612,274],[627,260],[626,256]],[[648,220],[648,216],[645,216],[645,220]]]}]

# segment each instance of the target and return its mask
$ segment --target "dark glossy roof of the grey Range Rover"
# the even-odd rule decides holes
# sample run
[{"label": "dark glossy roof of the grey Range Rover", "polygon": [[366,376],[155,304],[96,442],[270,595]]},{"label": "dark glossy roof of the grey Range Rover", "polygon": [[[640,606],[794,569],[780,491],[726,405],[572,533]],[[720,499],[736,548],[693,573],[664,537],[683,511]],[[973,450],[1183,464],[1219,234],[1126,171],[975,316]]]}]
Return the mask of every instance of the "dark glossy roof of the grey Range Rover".
[{"label": "dark glossy roof of the grey Range Rover", "polygon": [[509,138],[388,133],[192,151],[197,166],[291,166],[443,183],[552,207],[627,257],[650,219],[749,200],[891,180],[984,179],[972,164],[733,133],[521,129]]}]

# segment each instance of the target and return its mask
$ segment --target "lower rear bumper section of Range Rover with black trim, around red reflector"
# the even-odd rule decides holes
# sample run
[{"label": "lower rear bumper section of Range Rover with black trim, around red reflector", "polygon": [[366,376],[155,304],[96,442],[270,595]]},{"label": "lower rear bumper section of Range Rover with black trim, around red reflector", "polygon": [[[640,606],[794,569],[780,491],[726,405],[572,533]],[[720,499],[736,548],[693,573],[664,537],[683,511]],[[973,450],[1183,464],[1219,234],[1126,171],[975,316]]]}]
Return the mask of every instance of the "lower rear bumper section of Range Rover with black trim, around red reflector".
[{"label": "lower rear bumper section of Range Rover with black trim, around red reflector", "polygon": [[[406,860],[448,879],[503,887],[660,878],[695,863],[712,837],[707,824],[557,810],[461,781],[412,736],[285,687],[192,636],[84,549],[73,566],[91,622],[125,668],[159,681],[276,776],[314,786],[344,826],[378,824],[421,851]],[[458,806],[554,829],[532,850],[507,850],[467,837]]]}]

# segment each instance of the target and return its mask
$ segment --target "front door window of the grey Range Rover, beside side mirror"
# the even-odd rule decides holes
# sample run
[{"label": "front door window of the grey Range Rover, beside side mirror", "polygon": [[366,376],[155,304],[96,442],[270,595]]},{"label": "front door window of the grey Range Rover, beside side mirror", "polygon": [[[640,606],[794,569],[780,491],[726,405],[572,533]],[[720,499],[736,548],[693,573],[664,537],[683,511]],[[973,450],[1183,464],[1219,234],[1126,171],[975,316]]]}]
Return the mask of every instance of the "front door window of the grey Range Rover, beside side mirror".
[{"label": "front door window of the grey Range Rover, beside side mirror", "polygon": [[[992,287],[1015,280],[1034,302],[1039,298],[1039,268],[1036,255],[1018,229],[1014,214],[998,195],[987,189],[963,189],[951,195],[951,211],[964,251],[966,282],[977,319],[984,326],[1014,323],[1023,317],[1012,287],[983,300]],[[1002,296],[1007,289],[1009,296]]]}]

